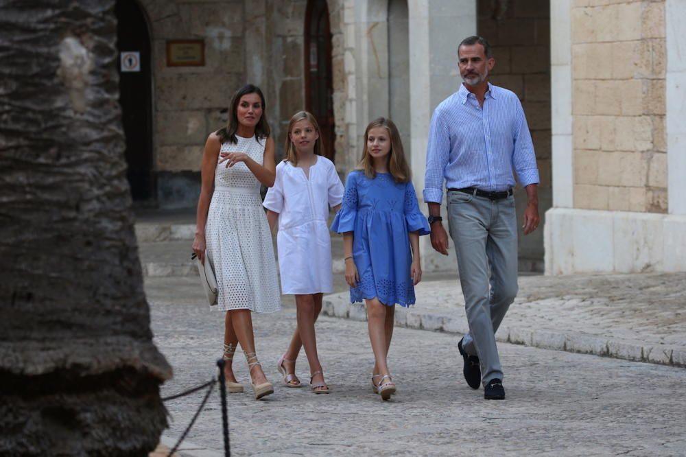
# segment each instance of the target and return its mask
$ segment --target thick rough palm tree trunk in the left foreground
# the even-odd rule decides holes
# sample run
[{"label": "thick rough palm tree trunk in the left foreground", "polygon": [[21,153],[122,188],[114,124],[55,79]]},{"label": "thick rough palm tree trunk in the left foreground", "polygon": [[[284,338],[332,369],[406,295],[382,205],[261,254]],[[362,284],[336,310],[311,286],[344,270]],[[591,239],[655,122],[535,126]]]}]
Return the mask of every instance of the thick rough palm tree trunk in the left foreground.
[{"label": "thick rough palm tree trunk in the left foreground", "polygon": [[113,8],[0,0],[0,455],[144,455],[167,425]]}]

